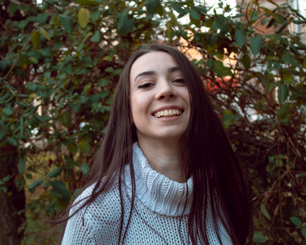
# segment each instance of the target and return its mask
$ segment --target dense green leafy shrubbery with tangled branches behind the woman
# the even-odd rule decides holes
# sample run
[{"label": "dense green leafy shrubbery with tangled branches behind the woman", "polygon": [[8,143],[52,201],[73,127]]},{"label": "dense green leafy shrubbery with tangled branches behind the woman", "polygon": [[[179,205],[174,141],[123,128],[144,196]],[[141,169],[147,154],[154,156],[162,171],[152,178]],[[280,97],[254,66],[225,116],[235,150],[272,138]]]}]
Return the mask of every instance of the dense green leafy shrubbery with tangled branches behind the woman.
[{"label": "dense green leafy shrubbery with tangled branches behind the woman", "polygon": [[253,243],[306,244],[306,46],[293,30],[306,19],[268,2],[0,0],[0,243],[55,243],[44,219],[86,181],[125,60],[162,40],[207,84],[254,201]]}]

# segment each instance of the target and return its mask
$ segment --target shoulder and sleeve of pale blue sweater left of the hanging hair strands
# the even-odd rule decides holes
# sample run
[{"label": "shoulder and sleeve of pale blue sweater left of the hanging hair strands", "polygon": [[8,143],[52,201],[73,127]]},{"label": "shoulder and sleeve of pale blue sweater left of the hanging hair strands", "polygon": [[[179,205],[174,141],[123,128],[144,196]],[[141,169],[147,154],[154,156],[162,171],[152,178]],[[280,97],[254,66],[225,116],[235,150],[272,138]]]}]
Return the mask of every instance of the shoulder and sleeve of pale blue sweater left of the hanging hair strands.
[{"label": "shoulder and sleeve of pale blue sweater left of the hanging hair strands", "polygon": [[[67,221],[62,245],[111,245],[118,243],[120,226],[120,202],[117,191],[112,190],[102,193],[91,204],[75,211],[84,203],[91,194],[91,189],[86,189],[71,210]],[[85,199],[84,199],[85,197]],[[84,199],[84,200],[82,200]],[[82,200],[79,202],[79,200]],[[75,213],[73,215],[73,213]]]}]

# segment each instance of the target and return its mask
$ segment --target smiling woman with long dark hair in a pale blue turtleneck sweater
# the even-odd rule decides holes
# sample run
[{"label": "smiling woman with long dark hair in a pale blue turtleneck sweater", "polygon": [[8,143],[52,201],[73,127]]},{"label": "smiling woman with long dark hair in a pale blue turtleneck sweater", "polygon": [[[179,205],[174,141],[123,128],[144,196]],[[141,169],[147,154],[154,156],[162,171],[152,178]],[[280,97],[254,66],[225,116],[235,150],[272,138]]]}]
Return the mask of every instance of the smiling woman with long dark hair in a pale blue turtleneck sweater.
[{"label": "smiling woman with long dark hair in a pale blue turtleneck sweater", "polygon": [[197,70],[174,47],[136,51],[62,244],[245,244],[251,203]]}]

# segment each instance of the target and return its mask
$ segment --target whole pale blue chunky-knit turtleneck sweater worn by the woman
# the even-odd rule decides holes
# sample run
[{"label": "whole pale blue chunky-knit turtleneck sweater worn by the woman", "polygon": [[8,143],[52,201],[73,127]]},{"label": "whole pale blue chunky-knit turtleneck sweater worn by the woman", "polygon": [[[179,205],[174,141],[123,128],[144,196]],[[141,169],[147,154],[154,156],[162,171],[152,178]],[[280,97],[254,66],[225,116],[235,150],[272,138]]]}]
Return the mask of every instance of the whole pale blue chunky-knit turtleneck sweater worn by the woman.
[{"label": "whole pale blue chunky-knit turtleneck sweater worn by the woman", "polygon": [[[154,171],[138,144],[133,145],[136,197],[124,244],[191,244],[188,215],[192,202],[192,179],[178,183]],[[123,174],[123,231],[129,218],[132,184],[128,165]],[[76,199],[70,215],[90,196],[94,185]],[[188,191],[187,191],[188,190]],[[187,198],[187,205],[185,201]],[[121,205],[118,183],[101,193],[94,202],[72,216],[66,225],[62,245],[118,244]],[[206,232],[210,245],[232,245],[220,221],[215,224],[207,207]],[[218,230],[218,231],[217,231]],[[122,244],[122,237],[120,244]],[[200,244],[200,241],[198,242]]]}]

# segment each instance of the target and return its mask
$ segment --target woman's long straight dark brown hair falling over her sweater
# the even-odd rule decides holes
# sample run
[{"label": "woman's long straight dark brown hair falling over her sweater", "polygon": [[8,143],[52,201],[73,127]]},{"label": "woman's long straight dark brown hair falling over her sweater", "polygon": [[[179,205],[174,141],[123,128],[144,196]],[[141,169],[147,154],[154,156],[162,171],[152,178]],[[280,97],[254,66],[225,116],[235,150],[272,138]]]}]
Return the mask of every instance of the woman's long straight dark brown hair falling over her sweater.
[{"label": "woman's long straight dark brown hair falling over her sweater", "polygon": [[[126,63],[118,81],[103,143],[83,190],[92,184],[95,184],[95,187],[91,197],[77,211],[94,201],[99,194],[118,181],[121,202],[118,244],[120,240],[124,241],[127,228],[122,234],[124,210],[121,176],[126,164],[129,165],[132,179],[132,201],[127,226],[132,214],[136,189],[132,144],[137,141],[137,135],[131,119],[129,76],[134,61],[149,52],[166,52],[171,55],[181,70],[190,93],[191,117],[188,128],[181,137],[181,164],[183,169],[188,169],[188,175],[193,181],[192,207],[188,217],[188,230],[192,244],[196,244],[198,239],[209,244],[205,217],[207,207],[211,206],[215,223],[221,220],[233,244],[244,245],[247,238],[249,240],[252,238],[252,204],[239,161],[215,113],[198,71],[177,48],[166,44],[152,43],[141,48]],[[217,236],[221,243],[220,235],[217,234]]]}]

